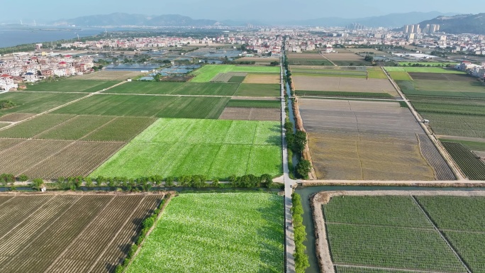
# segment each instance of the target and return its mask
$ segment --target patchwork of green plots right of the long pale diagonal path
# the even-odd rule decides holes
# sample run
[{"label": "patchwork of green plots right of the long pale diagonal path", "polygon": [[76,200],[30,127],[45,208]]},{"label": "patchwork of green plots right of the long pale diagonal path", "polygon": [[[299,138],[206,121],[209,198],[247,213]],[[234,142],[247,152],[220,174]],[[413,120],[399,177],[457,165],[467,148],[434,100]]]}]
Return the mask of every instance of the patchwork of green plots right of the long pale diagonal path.
[{"label": "patchwork of green plots right of the long pale diagonal path", "polygon": [[[414,108],[440,138],[485,139],[485,86],[454,69],[386,67]],[[400,72],[395,72],[399,70]],[[459,143],[443,143],[470,179],[484,179],[484,163]]]}]

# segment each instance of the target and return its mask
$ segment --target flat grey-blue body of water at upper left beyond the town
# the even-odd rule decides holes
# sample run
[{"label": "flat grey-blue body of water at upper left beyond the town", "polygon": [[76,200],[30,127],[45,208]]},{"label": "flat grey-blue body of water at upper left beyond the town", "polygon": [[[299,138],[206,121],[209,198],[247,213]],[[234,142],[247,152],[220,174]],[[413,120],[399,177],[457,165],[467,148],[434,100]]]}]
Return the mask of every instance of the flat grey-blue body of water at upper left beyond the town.
[{"label": "flat grey-blue body of water at upper left beyond the town", "polygon": [[0,48],[8,48],[15,45],[53,42],[56,40],[69,40],[79,37],[98,35],[103,32],[101,28],[77,29],[72,30],[40,30],[34,28],[9,29],[0,27]]}]

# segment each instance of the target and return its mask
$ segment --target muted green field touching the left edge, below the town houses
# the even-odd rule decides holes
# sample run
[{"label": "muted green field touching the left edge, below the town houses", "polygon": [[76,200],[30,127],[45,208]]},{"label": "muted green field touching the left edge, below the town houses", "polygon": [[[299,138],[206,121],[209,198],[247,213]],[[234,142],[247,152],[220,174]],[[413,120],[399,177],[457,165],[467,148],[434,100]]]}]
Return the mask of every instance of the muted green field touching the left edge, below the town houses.
[{"label": "muted green field touching the left edge, below the town houses", "polygon": [[0,116],[7,113],[42,113],[69,101],[82,98],[84,94],[52,94],[32,92],[8,92],[0,94],[0,100],[11,100],[18,106],[0,110]]}]

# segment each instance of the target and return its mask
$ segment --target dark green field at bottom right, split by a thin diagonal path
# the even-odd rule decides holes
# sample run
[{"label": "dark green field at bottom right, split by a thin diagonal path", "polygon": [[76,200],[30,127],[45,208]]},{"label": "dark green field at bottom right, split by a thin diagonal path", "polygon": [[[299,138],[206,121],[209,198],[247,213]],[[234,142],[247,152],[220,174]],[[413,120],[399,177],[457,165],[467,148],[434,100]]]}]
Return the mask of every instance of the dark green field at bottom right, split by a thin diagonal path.
[{"label": "dark green field at bottom right, split by a thin diagonal path", "polygon": [[335,272],[484,272],[484,197],[384,194],[337,194],[323,204]]}]

